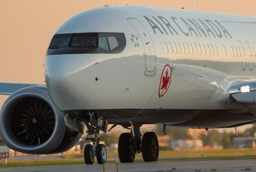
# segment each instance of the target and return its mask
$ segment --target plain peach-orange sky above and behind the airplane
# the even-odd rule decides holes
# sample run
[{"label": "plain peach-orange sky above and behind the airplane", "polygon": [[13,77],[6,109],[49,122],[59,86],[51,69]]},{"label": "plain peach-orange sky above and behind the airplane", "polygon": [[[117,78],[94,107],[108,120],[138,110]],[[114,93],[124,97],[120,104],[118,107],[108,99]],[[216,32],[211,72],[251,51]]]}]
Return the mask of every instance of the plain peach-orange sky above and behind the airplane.
[{"label": "plain peach-orange sky above and behind the airplane", "polygon": [[[0,0],[0,82],[44,82],[44,56],[54,32],[72,16],[104,5],[192,9],[193,0]],[[196,10],[256,15],[255,0],[196,0]],[[0,96],[0,107],[7,96]]]}]

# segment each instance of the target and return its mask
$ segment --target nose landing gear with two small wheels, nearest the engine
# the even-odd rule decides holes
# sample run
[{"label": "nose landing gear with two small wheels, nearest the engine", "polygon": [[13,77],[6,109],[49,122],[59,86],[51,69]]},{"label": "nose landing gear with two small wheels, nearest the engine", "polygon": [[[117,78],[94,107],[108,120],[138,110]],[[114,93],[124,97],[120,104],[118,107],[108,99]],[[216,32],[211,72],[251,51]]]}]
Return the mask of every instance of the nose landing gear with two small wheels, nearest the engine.
[{"label": "nose landing gear with two small wheels, nearest the engine", "polygon": [[102,164],[107,160],[107,149],[104,144],[100,144],[100,136],[96,127],[85,122],[87,127],[87,135],[85,140],[91,141],[93,144],[86,144],[84,148],[84,160],[86,164],[93,164],[94,156],[97,157],[98,164]]}]

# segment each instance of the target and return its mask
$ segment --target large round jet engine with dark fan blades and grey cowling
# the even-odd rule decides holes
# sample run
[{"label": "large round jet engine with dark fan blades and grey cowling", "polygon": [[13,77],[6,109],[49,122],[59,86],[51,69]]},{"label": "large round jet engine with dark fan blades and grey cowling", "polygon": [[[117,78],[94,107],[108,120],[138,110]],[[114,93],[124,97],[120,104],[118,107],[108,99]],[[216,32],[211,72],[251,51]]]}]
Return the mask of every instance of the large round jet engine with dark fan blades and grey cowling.
[{"label": "large round jet engine with dark fan blades and grey cowling", "polygon": [[9,148],[30,154],[67,151],[82,136],[66,127],[64,114],[43,85],[18,90],[7,98],[0,133]]}]

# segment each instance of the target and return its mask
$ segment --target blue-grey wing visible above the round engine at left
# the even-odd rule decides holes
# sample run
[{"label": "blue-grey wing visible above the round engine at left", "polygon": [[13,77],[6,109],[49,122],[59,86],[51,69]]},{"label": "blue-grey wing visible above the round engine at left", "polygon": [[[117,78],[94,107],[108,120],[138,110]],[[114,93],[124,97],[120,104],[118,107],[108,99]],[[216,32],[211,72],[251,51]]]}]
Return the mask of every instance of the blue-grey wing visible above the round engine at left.
[{"label": "blue-grey wing visible above the round engine at left", "polygon": [[39,84],[27,84],[27,83],[0,83],[0,94],[11,95],[17,90],[22,88],[31,87]]}]

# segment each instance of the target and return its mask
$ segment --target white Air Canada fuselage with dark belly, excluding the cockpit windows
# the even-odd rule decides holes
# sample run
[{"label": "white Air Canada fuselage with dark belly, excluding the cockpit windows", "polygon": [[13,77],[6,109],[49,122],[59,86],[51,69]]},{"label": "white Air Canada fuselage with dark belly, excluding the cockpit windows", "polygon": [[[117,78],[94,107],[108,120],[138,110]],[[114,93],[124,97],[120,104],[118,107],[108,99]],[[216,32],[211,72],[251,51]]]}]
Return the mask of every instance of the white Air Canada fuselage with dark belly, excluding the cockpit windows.
[{"label": "white Air Canada fuselage with dark belly, excluding the cockpit windows", "polygon": [[237,80],[256,78],[256,18],[103,7],[74,16],[55,34],[98,32],[124,33],[125,48],[46,55],[47,88],[61,110],[95,111],[112,123],[190,127],[229,127],[256,119],[233,113],[244,107],[227,106],[225,92]]}]

